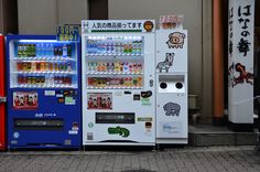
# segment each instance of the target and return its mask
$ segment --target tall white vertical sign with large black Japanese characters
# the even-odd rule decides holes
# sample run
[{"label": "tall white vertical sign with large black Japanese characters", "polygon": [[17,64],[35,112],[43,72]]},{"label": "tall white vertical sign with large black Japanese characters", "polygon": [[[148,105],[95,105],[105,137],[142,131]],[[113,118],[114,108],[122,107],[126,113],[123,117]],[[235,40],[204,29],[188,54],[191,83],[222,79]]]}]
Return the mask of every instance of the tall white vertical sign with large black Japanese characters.
[{"label": "tall white vertical sign with large black Japanese characters", "polygon": [[253,122],[254,0],[229,0],[228,119]]}]

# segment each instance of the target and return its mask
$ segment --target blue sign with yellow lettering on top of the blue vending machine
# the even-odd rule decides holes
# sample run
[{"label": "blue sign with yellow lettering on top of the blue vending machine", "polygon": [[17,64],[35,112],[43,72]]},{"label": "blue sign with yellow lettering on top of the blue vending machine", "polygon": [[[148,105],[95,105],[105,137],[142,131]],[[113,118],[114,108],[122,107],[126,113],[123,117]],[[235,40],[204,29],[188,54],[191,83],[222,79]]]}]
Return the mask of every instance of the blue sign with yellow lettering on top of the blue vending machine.
[{"label": "blue sign with yellow lettering on top of the blue vending machine", "polygon": [[57,41],[79,41],[79,25],[63,25],[56,29]]}]

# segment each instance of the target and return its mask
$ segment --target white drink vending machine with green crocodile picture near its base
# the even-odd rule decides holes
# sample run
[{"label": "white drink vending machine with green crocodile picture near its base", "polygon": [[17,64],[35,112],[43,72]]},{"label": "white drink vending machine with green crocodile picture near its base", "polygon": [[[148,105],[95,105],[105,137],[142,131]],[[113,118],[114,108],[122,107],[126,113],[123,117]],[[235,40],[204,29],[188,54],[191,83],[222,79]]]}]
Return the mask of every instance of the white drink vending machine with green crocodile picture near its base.
[{"label": "white drink vending machine with green crocodile picture near its base", "polygon": [[153,20],[82,21],[83,144],[155,144]]}]

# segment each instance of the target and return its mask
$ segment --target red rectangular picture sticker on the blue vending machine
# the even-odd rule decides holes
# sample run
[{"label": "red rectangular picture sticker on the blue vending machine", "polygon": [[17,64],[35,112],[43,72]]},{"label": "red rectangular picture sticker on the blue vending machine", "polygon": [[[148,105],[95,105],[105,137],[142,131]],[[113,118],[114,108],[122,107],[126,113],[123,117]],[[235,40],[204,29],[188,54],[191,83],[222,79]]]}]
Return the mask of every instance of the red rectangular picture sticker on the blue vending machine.
[{"label": "red rectangular picture sticker on the blue vending machine", "polygon": [[13,92],[14,109],[36,109],[39,96],[36,92]]}]

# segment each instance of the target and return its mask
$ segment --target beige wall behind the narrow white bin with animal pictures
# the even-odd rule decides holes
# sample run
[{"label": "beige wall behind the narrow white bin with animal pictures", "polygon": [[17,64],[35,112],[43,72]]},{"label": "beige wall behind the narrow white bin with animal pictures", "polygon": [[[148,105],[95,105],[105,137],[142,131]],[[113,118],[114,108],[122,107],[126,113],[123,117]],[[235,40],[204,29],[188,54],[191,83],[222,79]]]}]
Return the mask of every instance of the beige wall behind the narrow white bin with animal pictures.
[{"label": "beige wall behind the narrow white bin with animal pictures", "polygon": [[[159,19],[184,14],[188,30],[189,94],[199,95],[203,116],[212,117],[212,2],[203,0],[109,0],[109,19]],[[203,104],[202,104],[203,103]]]}]

